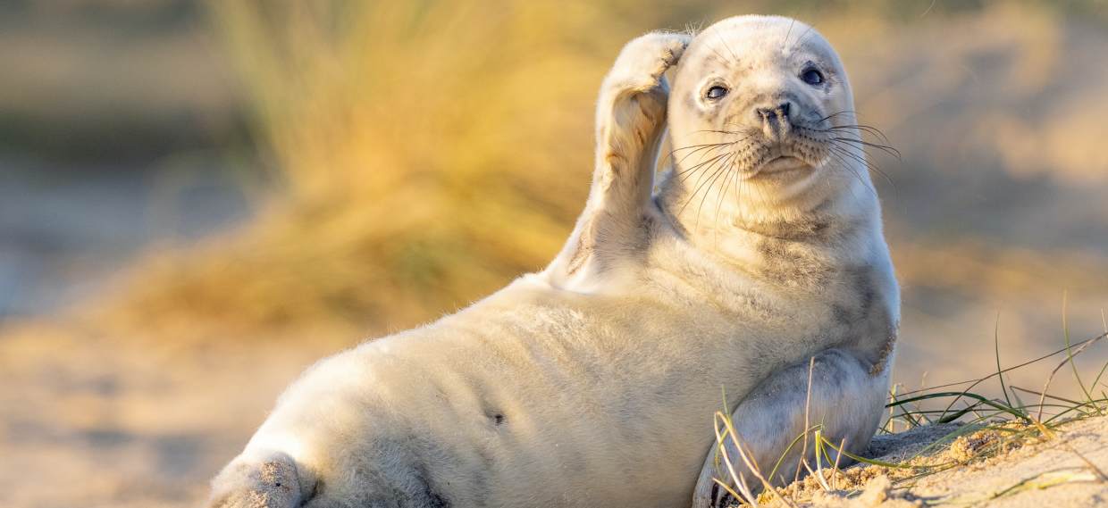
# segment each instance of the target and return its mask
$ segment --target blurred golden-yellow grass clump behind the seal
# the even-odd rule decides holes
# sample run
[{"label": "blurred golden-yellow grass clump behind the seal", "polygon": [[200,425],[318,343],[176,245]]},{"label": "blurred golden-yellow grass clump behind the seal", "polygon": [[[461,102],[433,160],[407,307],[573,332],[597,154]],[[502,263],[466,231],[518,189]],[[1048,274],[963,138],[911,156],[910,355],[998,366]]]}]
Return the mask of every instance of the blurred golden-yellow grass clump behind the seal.
[{"label": "blurred golden-yellow grass clump behind the seal", "polygon": [[[123,305],[138,323],[383,331],[540,269],[584,203],[592,103],[618,48],[647,30],[741,13],[630,0],[207,6],[280,191],[245,230],[152,257]],[[1065,8],[1105,15],[1096,1]],[[742,11],[818,21],[858,53],[923,17],[1004,8],[792,1]],[[861,73],[863,86],[876,87],[864,84],[874,73]],[[896,122],[890,107],[874,110]]]}]

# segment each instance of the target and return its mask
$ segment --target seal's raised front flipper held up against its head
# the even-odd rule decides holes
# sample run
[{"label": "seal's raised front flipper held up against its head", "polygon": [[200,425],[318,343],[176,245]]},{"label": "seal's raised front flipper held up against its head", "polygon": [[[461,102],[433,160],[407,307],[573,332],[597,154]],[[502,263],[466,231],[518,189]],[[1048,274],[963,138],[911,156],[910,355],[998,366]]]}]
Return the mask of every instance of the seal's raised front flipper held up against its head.
[{"label": "seal's raised front flipper held up against its head", "polygon": [[546,269],[561,288],[591,291],[618,265],[646,248],[654,166],[669,94],[663,74],[689,38],[648,33],[624,46],[601,85],[596,106],[596,169],[585,211],[562,252]]}]

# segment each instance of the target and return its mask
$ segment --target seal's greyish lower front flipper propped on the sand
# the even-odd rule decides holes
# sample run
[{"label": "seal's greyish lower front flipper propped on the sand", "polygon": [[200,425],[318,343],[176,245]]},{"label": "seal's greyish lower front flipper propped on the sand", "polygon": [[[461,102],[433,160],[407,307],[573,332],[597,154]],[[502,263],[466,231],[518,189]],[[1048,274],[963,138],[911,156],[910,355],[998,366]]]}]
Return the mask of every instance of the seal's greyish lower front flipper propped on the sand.
[{"label": "seal's greyish lower front flipper propped on the sand", "polygon": [[[864,452],[881,419],[889,390],[889,367],[883,366],[878,370],[880,372],[872,372],[871,365],[848,352],[830,350],[820,353],[811,370],[810,400],[808,362],[779,371],[763,381],[731,414],[748,458],[773,485],[792,481],[804,447],[797,443],[788,454],[786,450],[804,432],[806,403],[809,427],[822,425],[821,433],[835,446],[845,439],[848,452],[855,455]],[[752,491],[760,491],[760,480],[739,458],[735,443],[728,439],[726,444],[736,474],[745,476]],[[719,463],[717,467],[717,452],[718,447],[714,446],[705,459],[693,494],[694,508],[724,506],[719,501],[726,490],[719,488],[712,478],[729,480],[731,477],[726,465]],[[833,459],[837,453],[833,449],[828,452]],[[808,464],[814,468],[811,435],[806,455]],[[839,465],[850,462],[843,456]],[[774,466],[777,471],[770,476]]]}]

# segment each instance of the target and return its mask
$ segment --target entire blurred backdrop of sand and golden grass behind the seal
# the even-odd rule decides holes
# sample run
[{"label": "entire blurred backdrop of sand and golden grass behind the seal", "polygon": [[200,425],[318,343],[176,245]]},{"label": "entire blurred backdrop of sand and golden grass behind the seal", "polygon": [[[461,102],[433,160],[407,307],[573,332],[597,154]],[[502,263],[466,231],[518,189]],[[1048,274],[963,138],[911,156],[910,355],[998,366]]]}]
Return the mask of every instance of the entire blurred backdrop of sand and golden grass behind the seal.
[{"label": "entire blurred backdrop of sand and golden grass behind the seal", "polygon": [[8,0],[0,506],[198,505],[310,362],[551,259],[624,42],[742,13],[903,154],[901,391],[1108,329],[1105,1]]}]

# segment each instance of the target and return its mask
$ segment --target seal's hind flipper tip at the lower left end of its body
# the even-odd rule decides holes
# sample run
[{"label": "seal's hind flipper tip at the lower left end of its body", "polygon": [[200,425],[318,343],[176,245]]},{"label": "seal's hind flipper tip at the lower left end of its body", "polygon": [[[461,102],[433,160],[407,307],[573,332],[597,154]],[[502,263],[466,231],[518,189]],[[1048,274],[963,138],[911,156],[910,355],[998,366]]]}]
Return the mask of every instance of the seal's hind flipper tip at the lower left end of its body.
[{"label": "seal's hind flipper tip at the lower left end of its body", "polygon": [[212,480],[207,507],[298,508],[311,495],[304,479],[288,454],[244,453]]}]

